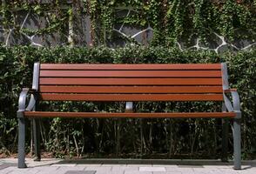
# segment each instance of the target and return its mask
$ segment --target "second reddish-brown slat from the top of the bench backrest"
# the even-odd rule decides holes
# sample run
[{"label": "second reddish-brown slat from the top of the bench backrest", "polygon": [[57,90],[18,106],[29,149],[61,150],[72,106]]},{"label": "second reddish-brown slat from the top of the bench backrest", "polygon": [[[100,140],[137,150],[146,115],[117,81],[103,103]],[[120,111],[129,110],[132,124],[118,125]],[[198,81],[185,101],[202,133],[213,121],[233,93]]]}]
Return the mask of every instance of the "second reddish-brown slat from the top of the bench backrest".
[{"label": "second reddish-brown slat from the top of the bench backrest", "polygon": [[221,77],[220,70],[41,70],[40,77]]}]

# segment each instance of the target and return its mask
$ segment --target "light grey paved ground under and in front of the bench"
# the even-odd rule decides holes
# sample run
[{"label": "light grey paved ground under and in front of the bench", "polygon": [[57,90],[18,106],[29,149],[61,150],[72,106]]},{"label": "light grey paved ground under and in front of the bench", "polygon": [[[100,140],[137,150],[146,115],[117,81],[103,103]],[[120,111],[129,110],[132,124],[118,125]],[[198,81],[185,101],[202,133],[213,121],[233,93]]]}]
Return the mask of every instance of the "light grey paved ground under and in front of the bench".
[{"label": "light grey paved ground under and in front of the bench", "polygon": [[256,160],[243,161],[242,170],[232,162],[173,159],[79,159],[26,158],[28,168],[18,169],[17,158],[0,159],[0,174],[256,174]]}]

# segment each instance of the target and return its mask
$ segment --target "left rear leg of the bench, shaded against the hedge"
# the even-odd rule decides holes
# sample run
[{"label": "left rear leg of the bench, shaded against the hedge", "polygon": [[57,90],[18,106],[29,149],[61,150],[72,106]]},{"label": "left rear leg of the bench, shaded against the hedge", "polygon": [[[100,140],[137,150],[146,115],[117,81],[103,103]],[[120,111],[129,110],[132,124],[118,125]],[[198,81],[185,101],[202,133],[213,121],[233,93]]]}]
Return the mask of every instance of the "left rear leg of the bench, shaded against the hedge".
[{"label": "left rear leg of the bench, shaded against the hedge", "polygon": [[34,161],[41,160],[40,153],[40,127],[39,120],[37,118],[33,119],[33,139],[34,139],[34,148],[35,148],[35,158]]}]

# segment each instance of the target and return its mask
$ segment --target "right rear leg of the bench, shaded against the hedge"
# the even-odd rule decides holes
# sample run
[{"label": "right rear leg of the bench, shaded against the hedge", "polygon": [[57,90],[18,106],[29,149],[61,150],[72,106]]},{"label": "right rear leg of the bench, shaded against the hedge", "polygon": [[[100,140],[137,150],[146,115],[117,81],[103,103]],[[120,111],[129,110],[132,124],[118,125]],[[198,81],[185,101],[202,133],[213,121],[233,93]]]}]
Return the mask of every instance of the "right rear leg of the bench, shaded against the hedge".
[{"label": "right rear leg of the bench, shaded against the hedge", "polygon": [[221,151],[221,161],[228,162],[227,151],[228,151],[228,122],[226,118],[222,119],[222,151]]}]

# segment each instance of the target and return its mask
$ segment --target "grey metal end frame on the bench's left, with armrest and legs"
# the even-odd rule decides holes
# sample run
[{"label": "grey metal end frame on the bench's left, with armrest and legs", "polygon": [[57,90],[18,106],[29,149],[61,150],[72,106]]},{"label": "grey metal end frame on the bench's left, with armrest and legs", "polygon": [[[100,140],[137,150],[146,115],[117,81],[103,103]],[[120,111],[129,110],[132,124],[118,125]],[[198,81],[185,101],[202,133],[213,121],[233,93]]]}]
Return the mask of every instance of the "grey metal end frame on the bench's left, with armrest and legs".
[{"label": "grey metal end frame on the bench's left, with armrest and legs", "polygon": [[[17,110],[17,118],[18,118],[18,168],[26,168],[25,164],[25,110],[36,110],[37,105],[37,90],[38,90],[38,79],[39,79],[39,63],[34,64],[34,73],[33,73],[33,85],[31,89],[24,88],[18,99],[18,110]],[[30,101],[26,107],[26,99],[28,94],[30,94]],[[36,126],[33,126],[36,127]],[[36,130],[38,128],[36,127]],[[34,139],[38,139],[38,133],[34,131]],[[37,157],[39,153],[39,144],[36,140],[35,150]]]}]

